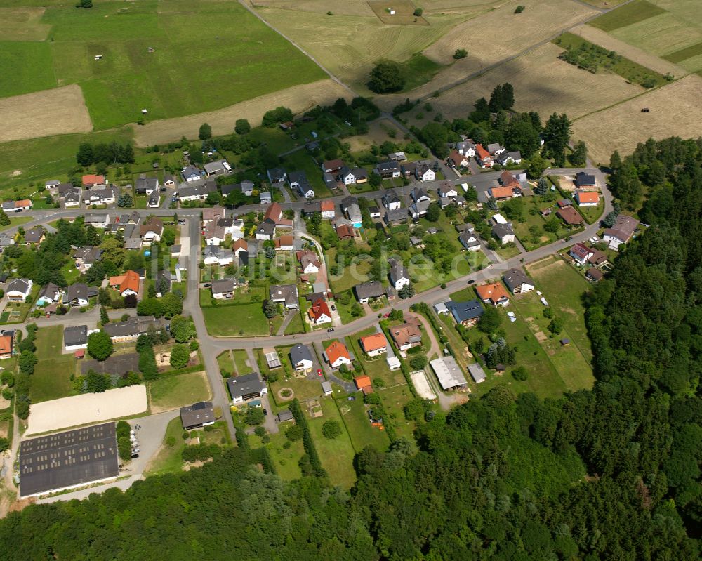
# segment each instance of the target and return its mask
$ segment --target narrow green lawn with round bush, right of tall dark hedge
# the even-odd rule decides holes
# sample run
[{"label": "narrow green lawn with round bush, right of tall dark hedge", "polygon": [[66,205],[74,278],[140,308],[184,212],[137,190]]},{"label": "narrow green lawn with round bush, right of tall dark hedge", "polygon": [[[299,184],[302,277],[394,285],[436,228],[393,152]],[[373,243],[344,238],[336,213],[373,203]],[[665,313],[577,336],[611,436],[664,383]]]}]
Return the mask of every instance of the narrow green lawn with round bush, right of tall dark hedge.
[{"label": "narrow green lawn with round bush, right of tall dark hedge", "polygon": [[[323,397],[319,400],[319,403],[322,405],[322,412],[324,415],[307,419],[307,423],[310,425],[310,433],[312,433],[312,439],[314,440],[314,446],[317,448],[319,459],[322,460],[322,466],[326,469],[327,473],[329,473],[331,482],[345,489],[350,489],[356,481],[353,458],[361,448],[357,449],[354,447],[351,442],[352,437],[345,431],[333,439],[326,438],[322,435],[322,426],[326,421],[336,420],[342,428],[344,422],[331,397]],[[366,423],[370,427],[371,424],[367,421],[367,417]]]}]

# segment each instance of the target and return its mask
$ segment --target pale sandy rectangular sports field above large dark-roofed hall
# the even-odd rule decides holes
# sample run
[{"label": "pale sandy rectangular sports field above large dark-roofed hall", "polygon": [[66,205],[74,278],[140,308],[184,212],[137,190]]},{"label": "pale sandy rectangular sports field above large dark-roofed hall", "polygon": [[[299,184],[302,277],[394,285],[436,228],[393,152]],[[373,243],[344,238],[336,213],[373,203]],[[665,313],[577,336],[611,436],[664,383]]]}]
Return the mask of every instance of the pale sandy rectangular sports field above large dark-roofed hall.
[{"label": "pale sandy rectangular sports field above large dark-roofed hall", "polygon": [[25,436],[109,421],[143,413],[147,408],[146,388],[143,385],[62,397],[29,407],[29,427]]}]

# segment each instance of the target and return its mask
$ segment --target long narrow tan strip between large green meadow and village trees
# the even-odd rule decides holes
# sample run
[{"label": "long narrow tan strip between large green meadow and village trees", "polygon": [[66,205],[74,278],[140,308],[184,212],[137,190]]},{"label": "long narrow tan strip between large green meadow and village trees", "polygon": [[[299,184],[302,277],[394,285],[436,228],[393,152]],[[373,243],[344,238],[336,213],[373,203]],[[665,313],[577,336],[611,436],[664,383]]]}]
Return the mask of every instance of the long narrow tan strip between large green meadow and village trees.
[{"label": "long narrow tan strip between large green meadow and village trees", "polygon": [[350,93],[331,79],[293,86],[224,109],[135,126],[135,143],[138,146],[150,146],[178,140],[183,135],[197,138],[199,127],[205,122],[212,126],[214,135],[227,134],[234,130],[237,119],[249,119],[252,126],[258,126],[263,114],[279,105],[290,107],[293,112],[298,113],[314,105],[329,105],[337,98],[350,100]]}]

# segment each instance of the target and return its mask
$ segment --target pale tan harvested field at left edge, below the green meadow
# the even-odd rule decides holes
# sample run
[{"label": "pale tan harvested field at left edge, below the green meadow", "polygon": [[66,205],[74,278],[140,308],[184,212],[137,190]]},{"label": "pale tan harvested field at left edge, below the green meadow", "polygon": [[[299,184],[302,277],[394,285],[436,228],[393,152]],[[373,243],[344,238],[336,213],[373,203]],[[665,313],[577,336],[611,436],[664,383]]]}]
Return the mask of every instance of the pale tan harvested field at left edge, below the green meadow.
[{"label": "pale tan harvested field at left edge, below the green meadow", "polygon": [[79,86],[0,99],[0,114],[4,116],[0,143],[93,130]]}]

